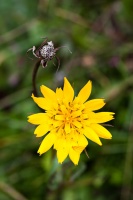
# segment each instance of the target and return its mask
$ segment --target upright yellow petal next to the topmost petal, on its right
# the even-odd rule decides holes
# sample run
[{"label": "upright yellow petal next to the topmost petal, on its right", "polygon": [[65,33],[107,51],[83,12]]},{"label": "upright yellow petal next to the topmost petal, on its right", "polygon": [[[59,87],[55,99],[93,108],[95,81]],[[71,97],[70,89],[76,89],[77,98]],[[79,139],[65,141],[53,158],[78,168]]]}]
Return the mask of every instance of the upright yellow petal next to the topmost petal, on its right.
[{"label": "upright yellow petal next to the topmost petal, on its right", "polygon": [[82,103],[84,103],[90,96],[92,89],[92,83],[91,81],[88,81],[88,83],[80,90],[78,94],[78,98]]}]

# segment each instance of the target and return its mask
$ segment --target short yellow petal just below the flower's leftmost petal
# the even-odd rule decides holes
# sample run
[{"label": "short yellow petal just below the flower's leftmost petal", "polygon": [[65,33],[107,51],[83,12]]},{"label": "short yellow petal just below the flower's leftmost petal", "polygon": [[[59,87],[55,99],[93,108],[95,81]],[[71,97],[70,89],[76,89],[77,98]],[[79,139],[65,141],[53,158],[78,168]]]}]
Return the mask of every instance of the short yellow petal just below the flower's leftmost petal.
[{"label": "short yellow petal just below the flower's leftmost petal", "polygon": [[34,134],[36,135],[36,137],[41,137],[43,135],[45,135],[50,129],[50,126],[48,124],[41,124],[39,125],[35,131]]}]

